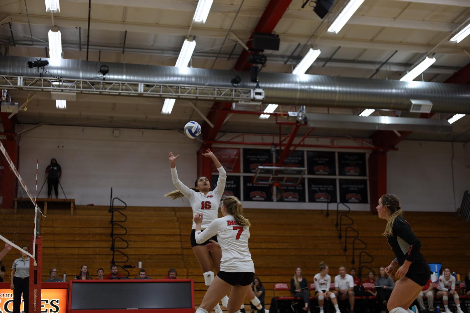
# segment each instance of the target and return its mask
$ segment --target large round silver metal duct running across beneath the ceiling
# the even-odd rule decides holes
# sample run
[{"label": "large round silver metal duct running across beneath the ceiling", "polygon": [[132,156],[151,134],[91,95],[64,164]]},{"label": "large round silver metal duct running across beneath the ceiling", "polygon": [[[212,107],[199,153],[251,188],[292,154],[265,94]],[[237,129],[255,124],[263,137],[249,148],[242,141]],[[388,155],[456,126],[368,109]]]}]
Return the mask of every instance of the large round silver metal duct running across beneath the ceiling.
[{"label": "large round silver metal duct running across beneath the ceiling", "polygon": [[[26,65],[28,61],[35,60],[31,57],[0,56],[0,76],[39,76],[37,68],[29,69]],[[238,87],[255,88],[247,72],[44,60],[49,61],[45,77],[98,80],[100,66],[106,64],[109,67],[107,81],[232,87],[231,80],[238,75],[242,79]],[[259,74],[259,85],[265,90],[264,103],[407,111],[411,107],[410,99],[425,99],[432,102],[432,112],[470,114],[470,85],[268,72]]]}]

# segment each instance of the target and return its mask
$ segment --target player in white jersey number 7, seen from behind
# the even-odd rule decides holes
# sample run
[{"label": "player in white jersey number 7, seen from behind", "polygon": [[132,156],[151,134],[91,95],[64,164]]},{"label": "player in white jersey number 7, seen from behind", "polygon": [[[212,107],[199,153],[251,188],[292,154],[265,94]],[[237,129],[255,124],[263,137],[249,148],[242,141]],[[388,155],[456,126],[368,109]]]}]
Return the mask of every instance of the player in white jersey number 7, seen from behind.
[{"label": "player in white jersey number 7, seen from behind", "polygon": [[228,313],[238,312],[255,275],[255,267],[248,249],[251,224],[243,216],[242,203],[236,197],[229,196],[222,201],[220,210],[223,217],[212,221],[204,231],[201,231],[204,215],[197,213],[194,216],[196,242],[203,243],[217,235],[222,250],[220,271],[209,286],[196,313],[207,313],[228,292]]}]

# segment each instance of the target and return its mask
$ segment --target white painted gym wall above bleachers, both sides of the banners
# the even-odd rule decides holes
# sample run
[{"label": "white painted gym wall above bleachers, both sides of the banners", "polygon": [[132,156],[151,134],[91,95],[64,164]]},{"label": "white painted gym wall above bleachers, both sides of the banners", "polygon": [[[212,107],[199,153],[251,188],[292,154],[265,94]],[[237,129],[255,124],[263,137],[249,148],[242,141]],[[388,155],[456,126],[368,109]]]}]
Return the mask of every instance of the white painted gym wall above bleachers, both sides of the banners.
[{"label": "white painted gym wall above bleachers, both sides of the banners", "polygon": [[[196,152],[200,143],[175,131],[120,129],[119,132],[119,137],[114,137],[110,128],[64,126],[41,126],[27,132],[19,142],[21,176],[34,194],[36,159],[39,158],[39,191],[46,177],[46,166],[51,158],[56,158],[63,168],[63,189],[68,198],[76,199],[78,205],[109,205],[110,188],[113,187],[114,196],[122,198],[130,206],[188,206],[187,201],[170,201],[163,197],[174,190],[167,155],[169,151],[181,154],[177,161],[178,173],[181,181],[191,185],[197,175]],[[322,144],[316,139],[310,141],[312,144]],[[341,142],[337,144],[346,145]],[[397,194],[405,209],[454,212],[452,145],[403,141],[398,147],[398,151],[388,153],[388,192]],[[469,177],[470,168],[465,167],[463,145],[454,143],[457,206],[460,205],[463,191],[470,189]],[[60,187],[59,192],[63,197]],[[40,197],[46,194],[47,184]],[[318,203],[248,201],[244,206],[326,208],[325,204]],[[334,209],[336,205],[330,208]],[[352,210],[368,211],[369,205],[353,204]]]}]

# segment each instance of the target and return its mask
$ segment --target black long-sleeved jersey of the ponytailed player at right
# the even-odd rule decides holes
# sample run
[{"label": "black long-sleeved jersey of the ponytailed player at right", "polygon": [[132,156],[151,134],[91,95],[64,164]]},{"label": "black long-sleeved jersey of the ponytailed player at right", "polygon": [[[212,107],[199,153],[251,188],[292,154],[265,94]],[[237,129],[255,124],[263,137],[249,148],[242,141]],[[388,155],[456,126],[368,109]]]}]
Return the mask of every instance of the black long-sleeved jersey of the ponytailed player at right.
[{"label": "black long-sleeved jersey of the ponytailed player at right", "polygon": [[399,265],[405,260],[413,263],[423,263],[427,266],[423,254],[420,252],[421,241],[416,237],[408,222],[403,216],[398,216],[393,221],[393,235],[387,237],[388,244],[392,247]]}]

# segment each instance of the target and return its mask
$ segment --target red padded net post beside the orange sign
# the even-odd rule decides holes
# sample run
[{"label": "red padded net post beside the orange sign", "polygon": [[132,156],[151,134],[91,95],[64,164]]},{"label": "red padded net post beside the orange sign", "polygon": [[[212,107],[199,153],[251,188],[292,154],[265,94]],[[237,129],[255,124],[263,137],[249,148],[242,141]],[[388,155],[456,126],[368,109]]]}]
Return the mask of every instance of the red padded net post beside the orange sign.
[{"label": "red padded net post beside the orange sign", "polygon": [[[36,239],[36,240],[35,240]],[[41,281],[42,281],[42,236],[35,238],[32,236],[31,245],[35,247],[34,262],[30,262],[30,287],[29,287],[29,312],[41,312]]]}]

